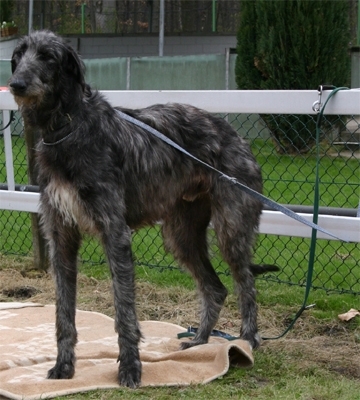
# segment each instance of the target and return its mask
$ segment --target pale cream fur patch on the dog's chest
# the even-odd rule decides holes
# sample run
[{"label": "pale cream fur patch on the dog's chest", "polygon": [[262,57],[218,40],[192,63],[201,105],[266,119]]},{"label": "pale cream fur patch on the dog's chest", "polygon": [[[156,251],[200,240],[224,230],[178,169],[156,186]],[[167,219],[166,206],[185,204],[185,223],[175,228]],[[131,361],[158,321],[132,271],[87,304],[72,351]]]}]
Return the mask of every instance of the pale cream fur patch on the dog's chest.
[{"label": "pale cream fur patch on the dog's chest", "polygon": [[94,230],[94,223],[72,185],[53,180],[49,182],[45,192],[50,206],[57,210],[64,224],[76,224],[85,231]]}]

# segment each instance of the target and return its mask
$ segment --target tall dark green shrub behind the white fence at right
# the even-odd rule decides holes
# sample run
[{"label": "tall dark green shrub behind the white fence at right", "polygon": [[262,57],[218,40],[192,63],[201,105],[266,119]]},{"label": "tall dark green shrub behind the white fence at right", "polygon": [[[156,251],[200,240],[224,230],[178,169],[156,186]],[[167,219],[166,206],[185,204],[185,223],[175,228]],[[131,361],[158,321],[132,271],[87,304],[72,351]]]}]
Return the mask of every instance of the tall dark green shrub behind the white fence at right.
[{"label": "tall dark green shrub behind the white fence at right", "polygon": [[[350,79],[348,1],[243,1],[237,35],[239,89],[317,89]],[[313,116],[262,116],[279,152],[309,151]]]}]

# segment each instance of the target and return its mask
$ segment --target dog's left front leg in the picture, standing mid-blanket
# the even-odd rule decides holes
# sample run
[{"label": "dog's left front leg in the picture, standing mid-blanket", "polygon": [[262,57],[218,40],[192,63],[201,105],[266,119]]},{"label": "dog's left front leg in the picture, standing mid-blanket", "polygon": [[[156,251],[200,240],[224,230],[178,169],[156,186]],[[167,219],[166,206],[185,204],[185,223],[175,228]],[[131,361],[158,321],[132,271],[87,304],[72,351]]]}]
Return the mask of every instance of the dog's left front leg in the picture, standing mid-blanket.
[{"label": "dog's left front leg in the picture, standing mid-blanket", "polygon": [[[49,224],[48,224],[49,226]],[[50,232],[49,232],[50,231]],[[77,227],[61,221],[47,230],[50,261],[56,284],[57,359],[49,379],[70,379],[75,373],[77,253],[81,243]]]}]

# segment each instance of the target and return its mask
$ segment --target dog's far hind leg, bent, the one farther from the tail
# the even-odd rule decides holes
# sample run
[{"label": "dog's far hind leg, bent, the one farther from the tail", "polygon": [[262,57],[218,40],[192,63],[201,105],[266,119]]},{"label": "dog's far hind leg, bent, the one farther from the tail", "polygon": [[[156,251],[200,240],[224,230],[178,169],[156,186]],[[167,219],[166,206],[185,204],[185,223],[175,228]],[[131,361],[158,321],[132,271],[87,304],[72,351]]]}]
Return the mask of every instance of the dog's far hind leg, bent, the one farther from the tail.
[{"label": "dog's far hind leg, bent, the one farther from the tail", "polygon": [[208,342],[227,296],[227,290],[214,271],[208,256],[207,227],[210,203],[207,197],[193,202],[181,200],[163,224],[165,247],[196,280],[201,299],[200,325],[195,337],[182,343],[186,349]]}]

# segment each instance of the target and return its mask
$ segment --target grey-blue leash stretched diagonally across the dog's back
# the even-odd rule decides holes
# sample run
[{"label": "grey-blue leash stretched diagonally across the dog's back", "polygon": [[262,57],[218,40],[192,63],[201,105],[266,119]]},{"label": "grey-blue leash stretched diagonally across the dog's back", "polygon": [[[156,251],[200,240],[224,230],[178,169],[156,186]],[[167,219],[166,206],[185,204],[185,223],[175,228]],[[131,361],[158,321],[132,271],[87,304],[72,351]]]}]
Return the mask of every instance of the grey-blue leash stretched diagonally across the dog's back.
[{"label": "grey-blue leash stretched diagonally across the dog's back", "polygon": [[131,122],[134,125],[139,126],[142,129],[145,129],[146,131],[150,132],[151,134],[153,134],[154,136],[156,136],[157,138],[159,138],[160,140],[162,140],[163,142],[167,143],[168,145],[174,147],[175,149],[179,150],[181,153],[187,155],[188,157],[192,158],[194,161],[196,161],[197,163],[203,165],[204,167],[206,167],[207,169],[210,169],[214,172],[216,172],[217,174],[220,175],[221,179],[225,179],[227,181],[229,181],[230,183],[232,183],[235,186],[238,186],[242,191],[244,191],[245,193],[250,194],[251,196],[255,197],[256,199],[260,200],[263,204],[267,205],[268,207],[270,207],[273,210],[276,211],[280,211],[281,213],[287,215],[288,217],[301,222],[302,224],[305,224],[307,226],[309,226],[312,229],[316,229],[320,232],[325,233],[326,235],[329,235],[335,239],[341,240],[341,241],[345,241],[344,239],[339,238],[338,236],[334,235],[333,233],[327,231],[326,229],[321,228],[321,226],[315,224],[314,222],[311,221],[307,221],[305,218],[301,217],[299,214],[295,213],[294,211],[291,211],[290,209],[282,206],[279,203],[276,203],[273,200],[270,200],[269,198],[267,198],[266,196],[262,195],[261,193],[257,192],[256,190],[253,190],[251,188],[249,188],[248,186],[242,184],[241,182],[239,182],[236,178],[230,177],[226,174],[224,174],[223,172],[221,172],[220,170],[214,168],[213,166],[207,164],[206,162],[200,160],[199,158],[193,156],[191,153],[189,153],[188,151],[186,151],[185,149],[183,149],[181,146],[179,146],[178,144],[176,144],[173,140],[169,139],[167,136],[165,136],[164,134],[160,133],[159,131],[157,131],[156,129],[152,128],[151,126],[145,124],[142,121],[139,121],[136,118],[131,117],[128,114],[123,113],[122,111],[119,111],[117,109],[115,109],[116,112],[119,114],[119,116],[126,120]]}]

